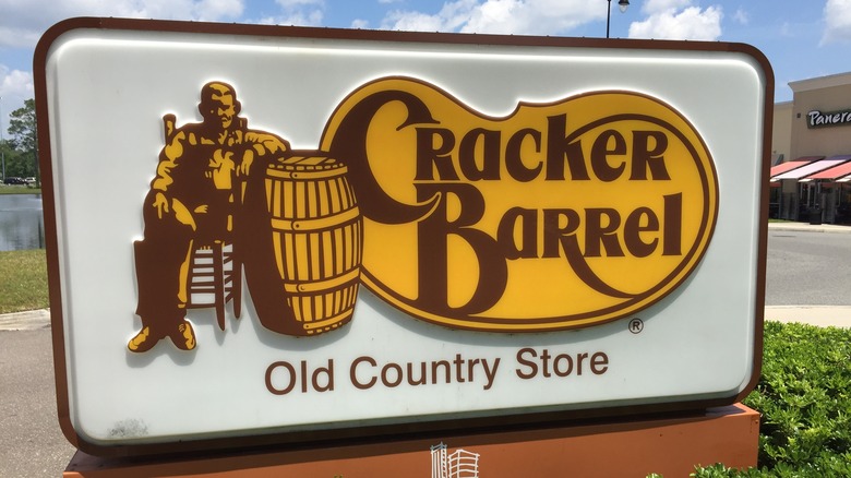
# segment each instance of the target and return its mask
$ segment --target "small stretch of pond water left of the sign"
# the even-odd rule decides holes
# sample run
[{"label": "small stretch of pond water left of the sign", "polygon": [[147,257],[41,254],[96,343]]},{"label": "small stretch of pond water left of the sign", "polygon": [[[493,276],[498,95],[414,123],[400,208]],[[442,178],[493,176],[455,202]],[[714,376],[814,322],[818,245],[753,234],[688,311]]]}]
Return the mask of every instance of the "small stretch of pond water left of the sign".
[{"label": "small stretch of pond water left of the sign", "polygon": [[44,247],[41,194],[0,194],[0,251]]}]

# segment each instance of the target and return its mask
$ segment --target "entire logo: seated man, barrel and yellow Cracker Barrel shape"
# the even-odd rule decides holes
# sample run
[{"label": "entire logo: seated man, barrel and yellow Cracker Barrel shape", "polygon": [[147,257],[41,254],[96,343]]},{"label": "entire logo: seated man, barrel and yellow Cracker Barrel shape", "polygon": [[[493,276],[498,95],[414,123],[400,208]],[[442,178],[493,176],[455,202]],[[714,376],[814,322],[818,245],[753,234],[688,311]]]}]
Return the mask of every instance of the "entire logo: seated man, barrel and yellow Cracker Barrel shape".
[{"label": "entire logo: seated man, barrel and yellow Cracker Barrel shape", "polygon": [[242,284],[261,324],[348,323],[361,284],[453,328],[542,332],[608,322],[675,289],[718,213],[711,157],[688,121],[636,93],[594,92],[502,118],[407,77],[333,112],[319,150],[249,128],[236,88],[201,91],[202,121],[164,120],[134,243],[142,327],[131,351],[195,347],[187,309]]}]

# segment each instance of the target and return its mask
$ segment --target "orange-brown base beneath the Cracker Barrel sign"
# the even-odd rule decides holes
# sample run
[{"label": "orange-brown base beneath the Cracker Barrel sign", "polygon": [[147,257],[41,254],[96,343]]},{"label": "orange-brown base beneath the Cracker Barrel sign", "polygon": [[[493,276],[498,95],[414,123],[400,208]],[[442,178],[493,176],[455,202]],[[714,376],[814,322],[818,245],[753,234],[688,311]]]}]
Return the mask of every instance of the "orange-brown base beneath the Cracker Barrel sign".
[{"label": "orange-brown base beneath the Cracker Barrel sign", "polygon": [[688,476],[756,466],[759,414],[741,404],[633,421],[348,446],[132,459],[77,452],[64,477]]}]

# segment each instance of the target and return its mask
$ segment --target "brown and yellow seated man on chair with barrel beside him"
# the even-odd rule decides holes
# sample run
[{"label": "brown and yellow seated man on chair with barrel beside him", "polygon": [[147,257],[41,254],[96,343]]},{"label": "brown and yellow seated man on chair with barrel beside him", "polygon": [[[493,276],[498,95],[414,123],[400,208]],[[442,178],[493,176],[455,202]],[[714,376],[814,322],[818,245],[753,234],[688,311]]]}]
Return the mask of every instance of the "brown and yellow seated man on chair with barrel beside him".
[{"label": "brown and yellow seated man on chair with barrel beside him", "polygon": [[187,309],[215,308],[224,331],[227,302],[241,313],[243,271],[269,331],[316,335],[351,320],[362,218],[346,165],[249,128],[241,109],[236,88],[214,81],[201,89],[201,122],[163,118],[144,239],[134,243],[142,327],[131,351],[166,337],[194,349]]}]

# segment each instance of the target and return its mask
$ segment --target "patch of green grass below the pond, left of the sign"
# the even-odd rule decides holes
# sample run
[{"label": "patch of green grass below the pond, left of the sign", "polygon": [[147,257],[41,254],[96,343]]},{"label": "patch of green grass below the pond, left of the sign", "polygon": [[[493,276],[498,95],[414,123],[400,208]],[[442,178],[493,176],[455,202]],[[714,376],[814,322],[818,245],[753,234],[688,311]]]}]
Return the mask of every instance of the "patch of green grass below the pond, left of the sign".
[{"label": "patch of green grass below the pond, left of the sign", "polygon": [[45,250],[0,252],[0,313],[48,306]]}]

